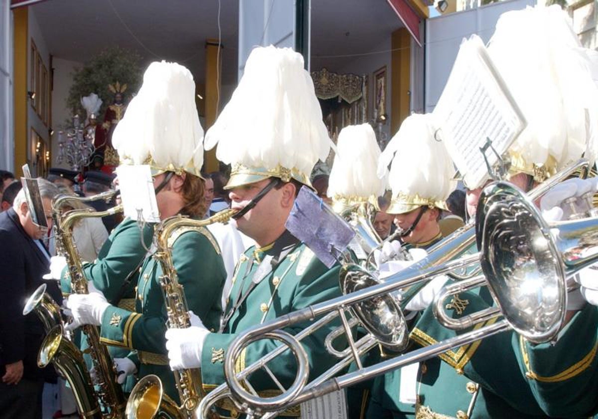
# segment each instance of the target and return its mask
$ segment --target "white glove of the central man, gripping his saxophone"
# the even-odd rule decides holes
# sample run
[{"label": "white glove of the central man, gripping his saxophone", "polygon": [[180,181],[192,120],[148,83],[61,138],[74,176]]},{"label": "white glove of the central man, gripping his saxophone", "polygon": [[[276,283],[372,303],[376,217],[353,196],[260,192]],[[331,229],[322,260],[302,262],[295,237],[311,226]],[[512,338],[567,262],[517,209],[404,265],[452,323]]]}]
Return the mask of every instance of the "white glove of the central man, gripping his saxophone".
[{"label": "white glove of the central man, gripping his saxophone", "polygon": [[189,317],[190,327],[166,330],[166,350],[172,371],[202,366],[203,342],[210,331],[193,311],[189,312]]}]

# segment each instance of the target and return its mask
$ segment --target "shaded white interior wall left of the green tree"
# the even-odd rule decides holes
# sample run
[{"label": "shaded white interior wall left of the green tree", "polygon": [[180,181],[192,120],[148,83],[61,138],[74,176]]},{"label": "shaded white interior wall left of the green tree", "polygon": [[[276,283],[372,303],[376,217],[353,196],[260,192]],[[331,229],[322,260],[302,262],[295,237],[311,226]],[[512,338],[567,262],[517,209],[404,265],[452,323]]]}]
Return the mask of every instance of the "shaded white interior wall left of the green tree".
[{"label": "shaded white interior wall left of the green tree", "polygon": [[54,68],[54,90],[52,92],[52,162],[51,167],[62,167],[70,169],[66,162],[58,164],[58,131],[64,128],[65,122],[73,117],[71,110],[66,107],[66,97],[69,94],[72,84],[72,73],[75,68],[83,66],[80,62],[69,61],[54,57],[52,60]]}]

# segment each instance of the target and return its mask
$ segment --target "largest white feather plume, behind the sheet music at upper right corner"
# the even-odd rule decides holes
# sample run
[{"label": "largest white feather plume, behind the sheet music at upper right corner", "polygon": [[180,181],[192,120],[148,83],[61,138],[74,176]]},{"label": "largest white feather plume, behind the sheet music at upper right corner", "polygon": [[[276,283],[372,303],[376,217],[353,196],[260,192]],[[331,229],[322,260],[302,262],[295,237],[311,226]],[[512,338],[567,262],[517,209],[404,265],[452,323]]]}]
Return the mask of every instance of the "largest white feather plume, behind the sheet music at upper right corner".
[{"label": "largest white feather plume, behind the sheet music at upper right corner", "polygon": [[550,156],[557,169],[587,148],[593,160],[598,90],[566,13],[557,5],[507,12],[488,50],[527,119],[511,150],[528,164]]}]

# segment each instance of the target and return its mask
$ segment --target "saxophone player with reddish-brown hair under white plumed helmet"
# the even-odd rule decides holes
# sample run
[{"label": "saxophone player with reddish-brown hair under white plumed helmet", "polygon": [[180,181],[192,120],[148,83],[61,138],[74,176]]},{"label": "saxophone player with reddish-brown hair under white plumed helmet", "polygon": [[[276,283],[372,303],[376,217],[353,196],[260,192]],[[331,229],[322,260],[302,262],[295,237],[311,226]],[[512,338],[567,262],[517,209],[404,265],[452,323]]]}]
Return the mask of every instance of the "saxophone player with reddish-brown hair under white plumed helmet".
[{"label": "saxophone player with reddish-brown hair under white plumed helmet", "polygon": [[[151,166],[160,220],[177,214],[200,218],[205,212],[200,177],[203,129],[194,92],[187,68],[154,62],[114,132],[114,145],[123,162]],[[170,240],[173,266],[188,307],[215,330],[226,277],[218,244],[204,227],[177,230]],[[136,351],[128,359],[117,360],[124,374],[158,375],[166,393],[178,400],[166,357],[167,316],[160,287],[161,275],[169,272],[162,271],[152,257],[154,251],[155,247],[149,249],[139,269],[134,308],[114,306],[101,292],[93,291],[72,294],[66,306],[74,317],[71,329],[81,324],[100,326],[104,344]]]}]

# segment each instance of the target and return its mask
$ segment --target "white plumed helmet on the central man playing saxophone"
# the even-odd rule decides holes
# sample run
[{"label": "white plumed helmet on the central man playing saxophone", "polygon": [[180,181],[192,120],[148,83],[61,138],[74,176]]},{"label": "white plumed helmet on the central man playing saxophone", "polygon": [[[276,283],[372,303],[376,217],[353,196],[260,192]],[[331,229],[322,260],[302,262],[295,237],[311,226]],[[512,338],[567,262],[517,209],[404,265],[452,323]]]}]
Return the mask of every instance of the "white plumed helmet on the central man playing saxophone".
[{"label": "white plumed helmet on the central man playing saxophone", "polygon": [[291,48],[257,47],[205,147],[231,164],[227,189],[269,177],[310,186],[309,174],[332,142],[303,57]]}]

